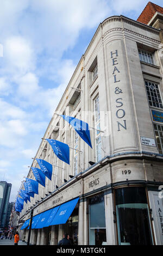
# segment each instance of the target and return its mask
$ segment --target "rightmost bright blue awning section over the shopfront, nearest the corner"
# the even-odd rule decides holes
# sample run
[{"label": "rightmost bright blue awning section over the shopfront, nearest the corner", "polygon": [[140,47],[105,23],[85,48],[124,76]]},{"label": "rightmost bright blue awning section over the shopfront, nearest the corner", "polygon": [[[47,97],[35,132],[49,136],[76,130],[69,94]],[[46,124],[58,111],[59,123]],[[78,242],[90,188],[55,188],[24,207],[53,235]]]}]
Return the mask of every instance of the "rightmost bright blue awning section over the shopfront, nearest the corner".
[{"label": "rightmost bright blue awning section over the shopfront, nearest the corner", "polygon": [[74,210],[76,204],[78,203],[78,200],[79,200],[79,197],[60,205],[60,208],[57,211],[57,214],[52,219],[49,225],[65,224],[68,218],[70,217],[70,215],[72,214],[72,211]]}]

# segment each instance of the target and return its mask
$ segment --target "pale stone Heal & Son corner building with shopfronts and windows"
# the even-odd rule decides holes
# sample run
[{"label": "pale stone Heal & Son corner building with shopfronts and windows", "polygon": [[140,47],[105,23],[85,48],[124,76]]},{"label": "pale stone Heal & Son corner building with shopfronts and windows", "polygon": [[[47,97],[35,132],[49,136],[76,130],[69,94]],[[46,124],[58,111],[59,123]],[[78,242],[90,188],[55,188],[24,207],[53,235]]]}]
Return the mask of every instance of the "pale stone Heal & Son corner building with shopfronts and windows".
[{"label": "pale stone Heal & Son corner building with shopfronts and windows", "polygon": [[[163,41],[150,24],[109,17],[80,59],[34,157],[53,164],[52,180],[39,184],[19,221],[32,209],[38,217],[77,203],[66,223],[33,228],[31,244],[57,245],[67,232],[76,245],[163,245]],[[89,124],[92,148],[59,114]],[[70,165],[46,138],[72,148]],[[27,241],[28,225],[19,227]]]}]

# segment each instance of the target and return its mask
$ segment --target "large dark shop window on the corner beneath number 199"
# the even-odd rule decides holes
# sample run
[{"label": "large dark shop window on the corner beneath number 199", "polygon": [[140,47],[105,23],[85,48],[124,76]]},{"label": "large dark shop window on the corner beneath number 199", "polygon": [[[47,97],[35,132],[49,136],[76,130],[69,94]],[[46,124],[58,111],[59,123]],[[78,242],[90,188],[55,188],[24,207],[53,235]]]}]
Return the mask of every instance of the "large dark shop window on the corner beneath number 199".
[{"label": "large dark shop window on the corner beneath number 199", "polygon": [[119,245],[152,245],[145,187],[115,191]]}]

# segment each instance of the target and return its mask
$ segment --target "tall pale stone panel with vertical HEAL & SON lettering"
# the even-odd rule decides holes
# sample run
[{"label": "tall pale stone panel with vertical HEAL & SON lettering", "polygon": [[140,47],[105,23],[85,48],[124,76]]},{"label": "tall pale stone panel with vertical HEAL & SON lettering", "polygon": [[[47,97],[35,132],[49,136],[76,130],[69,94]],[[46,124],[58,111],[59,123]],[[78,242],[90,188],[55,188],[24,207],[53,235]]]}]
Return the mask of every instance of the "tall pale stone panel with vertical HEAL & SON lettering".
[{"label": "tall pale stone panel with vertical HEAL & SON lettering", "polygon": [[136,148],[130,105],[132,99],[129,94],[130,86],[123,40],[109,42],[106,49],[114,151]]}]

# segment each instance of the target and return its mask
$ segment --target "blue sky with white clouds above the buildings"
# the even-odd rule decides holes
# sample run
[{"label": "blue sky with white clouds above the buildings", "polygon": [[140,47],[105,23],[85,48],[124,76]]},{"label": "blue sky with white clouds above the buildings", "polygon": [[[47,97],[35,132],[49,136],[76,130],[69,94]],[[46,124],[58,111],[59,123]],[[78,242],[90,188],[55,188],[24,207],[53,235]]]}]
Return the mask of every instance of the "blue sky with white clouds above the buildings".
[{"label": "blue sky with white clouds above the buildings", "polygon": [[[161,5],[162,0],[152,1]],[[76,66],[103,20],[146,0],[1,0],[0,180],[15,202]]]}]

